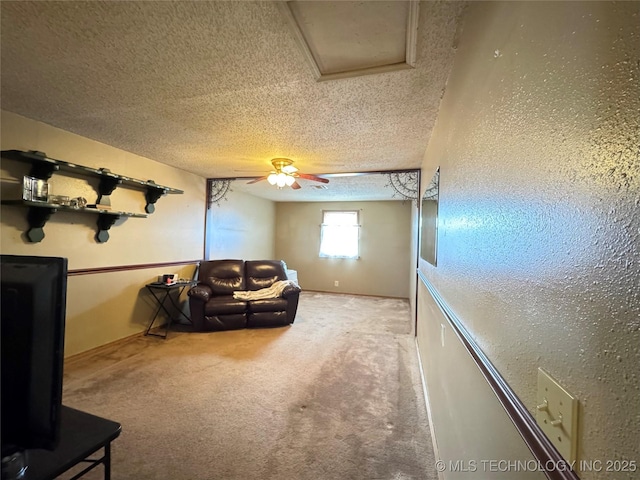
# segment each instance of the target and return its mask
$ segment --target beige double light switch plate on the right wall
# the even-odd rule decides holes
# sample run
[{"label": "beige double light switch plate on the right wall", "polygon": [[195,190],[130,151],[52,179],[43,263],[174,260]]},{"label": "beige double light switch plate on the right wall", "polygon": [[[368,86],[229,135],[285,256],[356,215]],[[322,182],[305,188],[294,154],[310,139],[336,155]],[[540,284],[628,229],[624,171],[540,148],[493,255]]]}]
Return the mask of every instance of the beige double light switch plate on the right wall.
[{"label": "beige double light switch plate on the right wall", "polygon": [[538,368],[536,422],[568,462],[578,452],[578,399]]}]

